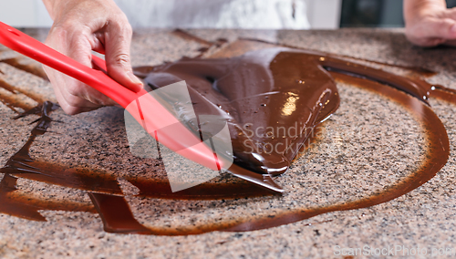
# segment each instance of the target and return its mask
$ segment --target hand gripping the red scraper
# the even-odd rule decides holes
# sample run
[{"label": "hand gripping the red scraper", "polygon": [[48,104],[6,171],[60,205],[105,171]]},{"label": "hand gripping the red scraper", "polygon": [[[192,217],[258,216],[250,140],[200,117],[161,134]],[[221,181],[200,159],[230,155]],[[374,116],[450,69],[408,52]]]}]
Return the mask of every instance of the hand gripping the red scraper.
[{"label": "hand gripping the red scraper", "polygon": [[[120,85],[139,91],[140,79],[130,65],[132,30],[112,0],[43,0],[54,24],[46,44],[92,67],[91,51],[105,54],[107,72]],[[62,109],[70,115],[116,103],[94,88],[45,67]]]}]

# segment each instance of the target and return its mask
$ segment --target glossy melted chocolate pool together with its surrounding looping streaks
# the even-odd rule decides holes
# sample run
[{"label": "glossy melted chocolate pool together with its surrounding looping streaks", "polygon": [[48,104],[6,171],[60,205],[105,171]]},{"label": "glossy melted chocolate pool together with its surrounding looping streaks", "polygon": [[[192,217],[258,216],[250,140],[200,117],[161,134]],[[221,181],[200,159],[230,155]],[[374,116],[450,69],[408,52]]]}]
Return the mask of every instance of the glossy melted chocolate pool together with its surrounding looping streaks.
[{"label": "glossy melted chocolate pool together with its surrounding looping streaks", "polygon": [[[31,114],[40,116],[24,147],[0,170],[5,173],[0,181],[0,212],[37,221],[45,220],[38,210],[98,212],[105,230],[114,233],[182,235],[211,231],[250,231],[293,223],[325,212],[365,208],[388,202],[429,181],[440,171],[449,156],[446,130],[430,109],[428,98],[441,97],[456,103],[456,92],[441,86],[432,86],[421,79],[403,78],[333,56],[291,48],[260,50],[233,58],[183,58],[160,67],[141,67],[137,72],[143,77],[147,76],[146,81],[153,88],[181,79],[186,80],[190,86],[195,112],[222,115],[226,118],[236,150],[236,162],[259,173],[277,174],[285,171],[301,144],[312,136],[309,131],[312,132],[316,124],[337,109],[339,99],[333,78],[375,91],[399,102],[415,114],[422,122],[429,140],[427,160],[423,161],[418,171],[403,181],[358,201],[316,209],[279,212],[274,217],[264,216],[256,220],[245,217],[233,222],[186,229],[146,228],[134,219],[114,176],[97,171],[68,170],[55,164],[35,161],[30,156],[30,146],[36,136],[47,131],[52,121],[49,113],[57,109],[57,106],[46,102],[39,108],[16,117],[18,119]],[[303,134],[297,134],[298,136],[288,132],[285,132],[285,135],[277,134],[283,133],[280,130],[267,133],[272,132],[266,130],[268,126],[274,126],[273,129],[291,129],[295,122],[298,125],[303,122],[304,128],[309,129],[297,129],[304,131],[300,132]],[[260,127],[264,127],[264,131],[258,130],[256,134],[256,129]],[[258,144],[258,149],[244,153],[245,143],[252,144],[253,147]],[[265,150],[267,143],[295,143],[295,147],[283,153],[269,153]],[[88,191],[94,205],[43,202],[27,197],[16,189],[18,177]],[[204,183],[173,193],[166,181],[139,178],[126,180],[140,189],[140,196],[161,199],[211,200],[271,195],[270,192],[244,181],[235,184]],[[275,196],[271,198],[274,199]]]}]

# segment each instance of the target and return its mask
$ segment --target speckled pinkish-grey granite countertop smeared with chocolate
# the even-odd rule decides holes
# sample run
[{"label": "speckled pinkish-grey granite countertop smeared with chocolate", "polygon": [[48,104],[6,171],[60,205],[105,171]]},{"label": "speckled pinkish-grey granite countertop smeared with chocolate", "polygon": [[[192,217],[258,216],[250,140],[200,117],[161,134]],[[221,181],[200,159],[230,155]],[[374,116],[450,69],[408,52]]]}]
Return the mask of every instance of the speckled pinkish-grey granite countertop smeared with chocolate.
[{"label": "speckled pinkish-grey granite countertop smeared with chocolate", "polygon": [[[413,47],[401,29],[186,32],[136,31],[131,47],[133,66],[154,66],[183,56],[209,57],[238,38],[255,38],[379,63],[425,67],[438,72],[427,78],[430,83],[456,88],[452,81],[456,49]],[[46,30],[40,29],[26,33],[41,40],[46,36]],[[16,57],[15,53],[1,50],[2,60]],[[202,50],[207,51],[202,53]],[[399,67],[358,62],[400,75],[409,73]],[[0,70],[3,72],[0,78],[16,89],[12,93],[0,88],[4,99],[15,99],[24,109],[45,100],[55,101],[45,79],[2,62]],[[137,196],[138,190],[125,179],[132,176],[153,179],[162,174],[161,165],[130,154],[123,110],[115,107],[76,116],[55,110],[51,114],[54,120],[51,127],[36,138],[30,152],[36,161],[114,175],[138,222],[158,231],[177,230],[174,233],[356,201],[394,186],[417,171],[427,157],[426,130],[420,121],[399,103],[375,92],[344,82],[338,82],[337,88],[340,108],[325,122],[317,145],[298,158],[290,171],[276,178],[285,188],[282,196],[206,201]],[[404,257],[406,249],[413,254],[418,248],[421,254],[426,252],[420,256],[423,258],[432,253],[454,256],[456,106],[438,98],[430,98],[430,106],[447,129],[450,158],[430,181],[390,202],[322,213],[296,223],[251,232],[119,234],[103,231],[87,191],[19,178],[18,196],[73,202],[88,210],[40,211],[46,222],[0,213],[0,258],[352,258],[347,248],[358,248],[356,258],[364,257],[362,252],[381,251],[376,248],[387,249],[383,253],[389,251],[389,255],[399,257]],[[0,114],[0,165],[3,166],[24,145],[37,117],[12,119],[16,112],[2,103]],[[0,173],[2,177],[4,174]]]}]

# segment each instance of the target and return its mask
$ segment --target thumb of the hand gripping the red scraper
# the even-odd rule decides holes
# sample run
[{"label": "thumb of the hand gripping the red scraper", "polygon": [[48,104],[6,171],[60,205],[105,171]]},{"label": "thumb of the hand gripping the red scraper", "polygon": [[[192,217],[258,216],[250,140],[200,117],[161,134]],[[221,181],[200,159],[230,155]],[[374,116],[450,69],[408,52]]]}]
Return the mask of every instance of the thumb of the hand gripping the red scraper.
[{"label": "thumb of the hand gripping the red scraper", "polygon": [[142,82],[133,75],[130,63],[131,27],[109,25],[105,32],[105,59],[109,77],[134,92],[140,91]]}]

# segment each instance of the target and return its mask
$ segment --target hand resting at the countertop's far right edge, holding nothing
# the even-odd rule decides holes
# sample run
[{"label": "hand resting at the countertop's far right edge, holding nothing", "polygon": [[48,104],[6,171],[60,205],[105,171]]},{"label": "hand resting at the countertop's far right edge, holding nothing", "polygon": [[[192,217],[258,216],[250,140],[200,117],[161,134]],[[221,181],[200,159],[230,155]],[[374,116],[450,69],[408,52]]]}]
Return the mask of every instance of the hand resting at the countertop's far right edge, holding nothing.
[{"label": "hand resting at the countertop's far right edge, holding nothing", "polygon": [[421,47],[456,46],[456,8],[445,0],[404,0],[406,36]]}]

